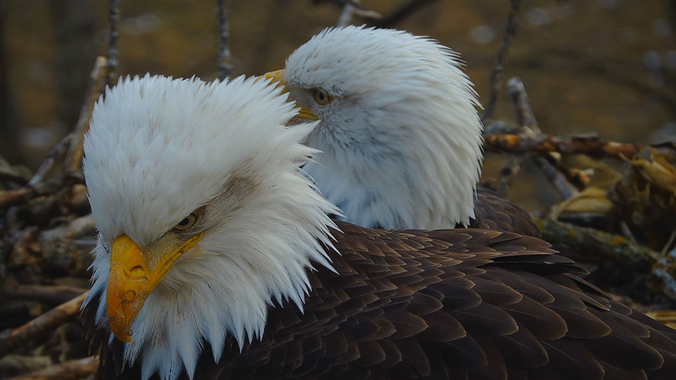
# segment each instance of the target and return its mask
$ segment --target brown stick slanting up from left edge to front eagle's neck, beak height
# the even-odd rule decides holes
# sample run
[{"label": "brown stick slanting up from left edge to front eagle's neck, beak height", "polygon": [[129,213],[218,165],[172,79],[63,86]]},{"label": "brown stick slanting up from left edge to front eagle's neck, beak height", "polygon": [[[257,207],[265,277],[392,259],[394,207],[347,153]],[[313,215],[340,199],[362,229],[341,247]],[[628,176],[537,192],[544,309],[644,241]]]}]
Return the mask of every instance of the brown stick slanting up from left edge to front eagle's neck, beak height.
[{"label": "brown stick slanting up from left edge to front eagle's neck, beak height", "polygon": [[58,305],[21,327],[0,333],[0,357],[70,321],[80,312],[80,306],[85,297],[87,293],[82,293],[77,298]]}]

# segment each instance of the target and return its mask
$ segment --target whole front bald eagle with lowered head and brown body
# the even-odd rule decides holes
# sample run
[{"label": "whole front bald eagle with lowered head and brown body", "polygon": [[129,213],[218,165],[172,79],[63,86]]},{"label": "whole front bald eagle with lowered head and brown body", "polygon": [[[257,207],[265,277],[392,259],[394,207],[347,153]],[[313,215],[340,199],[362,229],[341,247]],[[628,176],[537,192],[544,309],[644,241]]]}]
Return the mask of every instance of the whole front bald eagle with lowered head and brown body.
[{"label": "whole front bald eagle with lowered head and brown body", "polygon": [[295,114],[242,77],[127,78],[96,103],[99,377],[673,379],[676,331],[542,240],[330,220]]}]

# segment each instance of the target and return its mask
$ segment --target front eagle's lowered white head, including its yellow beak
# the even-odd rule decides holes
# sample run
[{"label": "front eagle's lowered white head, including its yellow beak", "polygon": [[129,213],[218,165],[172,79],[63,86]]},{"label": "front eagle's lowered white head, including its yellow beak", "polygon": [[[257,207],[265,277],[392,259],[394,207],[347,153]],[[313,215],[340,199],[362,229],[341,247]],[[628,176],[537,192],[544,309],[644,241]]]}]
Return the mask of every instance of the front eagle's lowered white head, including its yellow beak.
[{"label": "front eagle's lowered white head, including its yellow beak", "polygon": [[[227,334],[261,336],[267,310],[299,308],[313,263],[331,267],[326,213],[299,167],[314,124],[285,125],[287,96],[230,82],[134,77],[106,91],[84,139],[99,229],[89,302],[140,360],[143,378],[192,376],[202,339],[218,361]],[[111,339],[113,339],[111,334]]]}]

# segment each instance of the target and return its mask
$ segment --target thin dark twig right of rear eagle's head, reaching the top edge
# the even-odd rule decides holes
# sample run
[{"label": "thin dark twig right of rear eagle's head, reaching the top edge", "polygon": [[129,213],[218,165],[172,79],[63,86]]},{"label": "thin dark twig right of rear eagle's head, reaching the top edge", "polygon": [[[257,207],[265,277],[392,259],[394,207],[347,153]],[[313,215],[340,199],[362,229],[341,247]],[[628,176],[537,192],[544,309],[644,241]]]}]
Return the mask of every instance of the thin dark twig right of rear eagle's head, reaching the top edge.
[{"label": "thin dark twig right of rear eagle's head, reaching the top edge", "polygon": [[511,40],[514,37],[514,34],[516,34],[518,27],[517,16],[520,5],[520,0],[510,1],[509,13],[507,15],[507,26],[505,27],[505,33],[502,37],[498,55],[495,57],[495,63],[493,64],[493,70],[489,80],[488,102],[486,103],[486,108],[484,108],[484,114],[481,117],[481,120],[484,122],[484,124],[491,120],[495,113],[495,105],[498,102],[500,89],[502,87],[502,72],[505,70],[505,59],[507,58]]}]

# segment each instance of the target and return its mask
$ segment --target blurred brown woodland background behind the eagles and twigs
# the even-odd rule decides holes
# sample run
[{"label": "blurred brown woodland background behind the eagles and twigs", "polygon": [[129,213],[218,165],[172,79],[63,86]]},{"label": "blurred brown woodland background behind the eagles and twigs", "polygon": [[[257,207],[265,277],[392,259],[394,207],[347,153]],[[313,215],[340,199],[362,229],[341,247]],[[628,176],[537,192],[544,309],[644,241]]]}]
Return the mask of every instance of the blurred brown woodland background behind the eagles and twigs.
[{"label": "blurred brown woodland background behind the eagles and twigs", "polygon": [[[361,4],[388,15],[403,1]],[[392,27],[462,53],[485,102],[509,1],[429,3]],[[648,142],[676,132],[676,1],[521,3],[504,78],[524,82],[545,133]],[[233,74],[282,68],[289,53],[335,25],[340,12],[330,1],[227,1]],[[0,156],[35,170],[73,129],[94,58],[105,55],[107,15],[103,0],[0,1]],[[218,75],[214,0],[123,0],[120,17],[120,75]],[[513,120],[505,98],[496,119]],[[489,155],[484,175],[495,175],[504,160]],[[510,196],[535,210],[558,194],[527,165]]]}]

